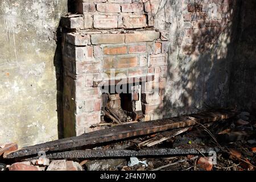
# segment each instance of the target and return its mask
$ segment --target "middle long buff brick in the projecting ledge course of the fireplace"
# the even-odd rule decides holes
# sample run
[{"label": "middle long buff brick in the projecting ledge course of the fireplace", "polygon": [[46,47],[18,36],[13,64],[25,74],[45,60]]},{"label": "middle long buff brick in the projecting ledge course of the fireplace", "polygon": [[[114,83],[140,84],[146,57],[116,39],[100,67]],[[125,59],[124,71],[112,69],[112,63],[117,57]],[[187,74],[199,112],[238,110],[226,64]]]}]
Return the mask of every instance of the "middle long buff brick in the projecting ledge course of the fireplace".
[{"label": "middle long buff brick in the projecting ledge course of the fireplace", "polygon": [[118,44],[125,43],[124,34],[96,34],[91,35],[92,44]]}]

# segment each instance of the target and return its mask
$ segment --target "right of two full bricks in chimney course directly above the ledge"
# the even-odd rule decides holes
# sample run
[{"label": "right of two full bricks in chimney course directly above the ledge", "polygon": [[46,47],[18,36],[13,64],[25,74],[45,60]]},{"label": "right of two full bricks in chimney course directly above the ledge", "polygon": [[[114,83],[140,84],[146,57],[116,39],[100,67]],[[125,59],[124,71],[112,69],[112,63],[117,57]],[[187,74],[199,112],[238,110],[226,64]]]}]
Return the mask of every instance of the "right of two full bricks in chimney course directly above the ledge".
[{"label": "right of two full bricks in chimney course directly above the ledge", "polygon": [[123,18],[125,28],[143,28],[147,27],[146,15],[128,15]]}]

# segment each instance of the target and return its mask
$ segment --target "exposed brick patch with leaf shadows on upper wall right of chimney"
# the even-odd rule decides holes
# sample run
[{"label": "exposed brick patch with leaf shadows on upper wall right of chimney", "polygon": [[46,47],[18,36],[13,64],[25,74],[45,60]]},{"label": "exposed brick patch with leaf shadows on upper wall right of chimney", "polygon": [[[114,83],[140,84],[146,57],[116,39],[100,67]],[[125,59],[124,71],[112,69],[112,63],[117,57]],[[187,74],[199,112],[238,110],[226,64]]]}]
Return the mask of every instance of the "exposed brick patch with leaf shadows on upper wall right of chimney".
[{"label": "exposed brick patch with leaf shadows on upper wall right of chimney", "polygon": [[183,0],[183,52],[207,51],[231,20],[231,0]]}]

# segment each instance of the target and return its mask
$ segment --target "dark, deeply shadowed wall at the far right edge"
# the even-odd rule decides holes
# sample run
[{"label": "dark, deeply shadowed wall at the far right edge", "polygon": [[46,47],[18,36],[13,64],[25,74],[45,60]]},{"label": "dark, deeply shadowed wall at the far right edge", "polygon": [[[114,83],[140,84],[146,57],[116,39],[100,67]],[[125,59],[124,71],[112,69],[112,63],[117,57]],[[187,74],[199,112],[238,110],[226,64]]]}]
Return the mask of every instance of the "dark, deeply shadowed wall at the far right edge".
[{"label": "dark, deeply shadowed wall at the far right edge", "polygon": [[241,1],[230,105],[256,113],[256,1]]}]

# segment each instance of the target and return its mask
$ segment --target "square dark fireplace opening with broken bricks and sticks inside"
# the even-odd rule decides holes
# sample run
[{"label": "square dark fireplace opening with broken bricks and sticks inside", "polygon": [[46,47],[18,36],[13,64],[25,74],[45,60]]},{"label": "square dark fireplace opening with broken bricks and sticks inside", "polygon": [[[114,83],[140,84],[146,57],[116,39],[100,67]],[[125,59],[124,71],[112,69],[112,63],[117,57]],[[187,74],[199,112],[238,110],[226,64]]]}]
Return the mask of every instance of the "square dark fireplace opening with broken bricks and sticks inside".
[{"label": "square dark fireplace opening with broken bricks and sticks inside", "polygon": [[101,123],[141,122],[141,83],[101,87]]}]

